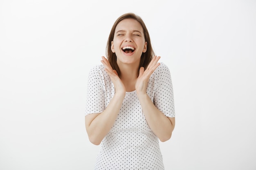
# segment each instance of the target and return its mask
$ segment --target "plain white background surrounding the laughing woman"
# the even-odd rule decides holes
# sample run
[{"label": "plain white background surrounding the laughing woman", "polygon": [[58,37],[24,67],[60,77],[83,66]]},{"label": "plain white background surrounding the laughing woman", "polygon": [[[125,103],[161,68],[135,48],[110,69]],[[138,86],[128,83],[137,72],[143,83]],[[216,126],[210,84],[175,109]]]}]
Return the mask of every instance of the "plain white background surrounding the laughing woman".
[{"label": "plain white background surrounding the laughing woman", "polygon": [[127,12],[172,75],[166,170],[255,170],[255,0],[1,0],[0,170],[93,169],[88,71]]}]

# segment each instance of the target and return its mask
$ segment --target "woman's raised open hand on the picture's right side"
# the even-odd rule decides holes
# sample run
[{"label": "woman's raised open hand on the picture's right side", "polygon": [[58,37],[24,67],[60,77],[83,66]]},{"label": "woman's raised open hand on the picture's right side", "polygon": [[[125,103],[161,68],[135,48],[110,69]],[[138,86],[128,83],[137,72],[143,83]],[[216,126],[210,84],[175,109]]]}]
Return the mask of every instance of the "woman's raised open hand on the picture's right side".
[{"label": "woman's raised open hand on the picture's right side", "polygon": [[148,64],[146,70],[144,70],[144,67],[139,68],[139,77],[137,78],[135,84],[135,89],[138,95],[146,93],[150,75],[152,75],[155,69],[160,65],[160,63],[158,63],[159,59],[160,56],[154,56],[151,62]]}]

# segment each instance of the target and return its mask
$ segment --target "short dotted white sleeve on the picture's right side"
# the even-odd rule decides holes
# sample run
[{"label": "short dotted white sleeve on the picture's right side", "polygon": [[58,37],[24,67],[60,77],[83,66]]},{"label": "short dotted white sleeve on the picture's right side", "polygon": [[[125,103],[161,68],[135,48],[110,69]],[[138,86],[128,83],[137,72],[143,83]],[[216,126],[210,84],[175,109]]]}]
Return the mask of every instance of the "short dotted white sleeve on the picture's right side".
[{"label": "short dotted white sleeve on the picture's right side", "polygon": [[154,104],[167,117],[175,117],[171,73],[164,63],[161,63],[157,69],[157,79]]}]

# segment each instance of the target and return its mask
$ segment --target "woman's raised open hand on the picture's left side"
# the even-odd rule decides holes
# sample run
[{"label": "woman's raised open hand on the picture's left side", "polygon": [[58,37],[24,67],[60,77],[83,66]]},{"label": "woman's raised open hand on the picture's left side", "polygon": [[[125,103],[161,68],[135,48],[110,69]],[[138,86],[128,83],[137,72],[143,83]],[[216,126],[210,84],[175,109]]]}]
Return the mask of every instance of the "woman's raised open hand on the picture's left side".
[{"label": "woman's raised open hand on the picture's left side", "polygon": [[119,93],[125,96],[126,88],[123,82],[121,81],[120,77],[118,76],[117,71],[113,70],[112,66],[104,56],[102,56],[101,58],[101,63],[105,66],[105,71],[108,73],[110,79],[112,80],[115,86],[115,93]]}]

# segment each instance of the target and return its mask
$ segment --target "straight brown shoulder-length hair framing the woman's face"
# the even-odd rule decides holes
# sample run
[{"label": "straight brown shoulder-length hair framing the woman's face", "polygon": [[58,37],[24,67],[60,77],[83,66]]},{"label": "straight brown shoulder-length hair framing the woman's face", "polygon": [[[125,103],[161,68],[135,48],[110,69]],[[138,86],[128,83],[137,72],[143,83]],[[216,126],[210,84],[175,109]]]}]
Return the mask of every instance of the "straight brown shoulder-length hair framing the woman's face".
[{"label": "straight brown shoulder-length hair framing the woman's face", "polygon": [[[141,54],[139,68],[144,67],[146,69],[146,67],[152,60],[153,56],[155,55],[153,48],[151,46],[148,29],[147,29],[144,21],[141,19],[141,17],[139,17],[138,15],[135,15],[134,13],[125,13],[125,14],[121,15],[119,18],[117,18],[117,20],[115,21],[115,23],[112,26],[112,29],[111,29],[109,37],[108,37],[108,43],[106,46],[106,56],[108,57],[108,61],[109,61],[110,65],[112,66],[113,70],[117,71],[119,76],[120,76],[120,69],[117,65],[117,56],[115,53],[113,53],[111,51],[111,42],[114,39],[114,34],[115,34],[115,29],[117,27],[117,24],[119,24],[119,22],[124,19],[137,20],[141,24],[143,32],[144,32],[144,38],[145,38],[145,41],[147,42],[147,50],[145,53]],[[139,71],[139,68],[138,68],[138,71]]]}]

